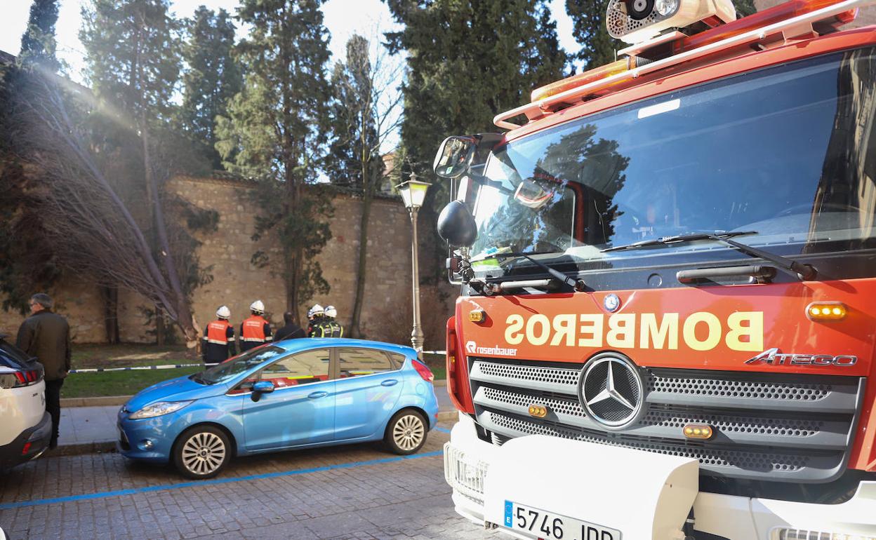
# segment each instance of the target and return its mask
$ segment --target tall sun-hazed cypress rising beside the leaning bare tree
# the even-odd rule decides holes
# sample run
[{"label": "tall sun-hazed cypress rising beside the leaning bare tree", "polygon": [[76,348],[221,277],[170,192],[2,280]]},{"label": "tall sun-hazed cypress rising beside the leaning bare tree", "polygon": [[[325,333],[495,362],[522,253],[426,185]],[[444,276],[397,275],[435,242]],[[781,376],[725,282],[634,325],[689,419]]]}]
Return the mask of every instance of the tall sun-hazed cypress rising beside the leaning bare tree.
[{"label": "tall sun-hazed cypress rising beside the leaning bare tree", "polygon": [[180,21],[170,14],[170,0],[92,0],[82,8],[79,36],[88,79],[103,105],[95,132],[102,134],[105,155],[117,152],[139,162],[131,174],[145,186],[145,229],[151,249],[159,254],[172,308],[155,312],[158,341],[164,340],[164,311],[173,313],[187,341],[197,343],[200,330],[190,295],[208,279],[199,277],[190,244],[175,242],[177,235],[168,234],[177,221],[166,218],[166,205],[173,201],[164,192],[164,182],[183,161],[176,158],[180,141],[169,130],[180,74]]}]

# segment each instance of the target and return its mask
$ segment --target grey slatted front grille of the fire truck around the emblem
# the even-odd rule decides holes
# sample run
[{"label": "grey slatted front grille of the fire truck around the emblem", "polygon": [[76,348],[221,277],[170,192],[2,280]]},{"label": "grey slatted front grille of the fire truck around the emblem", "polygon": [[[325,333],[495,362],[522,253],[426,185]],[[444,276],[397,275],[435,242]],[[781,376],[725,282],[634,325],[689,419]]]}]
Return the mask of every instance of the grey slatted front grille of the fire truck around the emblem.
[{"label": "grey slatted front grille of the fire truck around the emblem", "polygon": [[[477,421],[493,444],[531,434],[698,459],[722,477],[828,481],[842,473],[863,396],[864,379],[824,375],[646,369],[646,412],[608,431],[578,400],[581,368],[470,359]],[[530,417],[533,403],[548,415]],[[708,441],[682,435],[685,424],[709,424]]]}]

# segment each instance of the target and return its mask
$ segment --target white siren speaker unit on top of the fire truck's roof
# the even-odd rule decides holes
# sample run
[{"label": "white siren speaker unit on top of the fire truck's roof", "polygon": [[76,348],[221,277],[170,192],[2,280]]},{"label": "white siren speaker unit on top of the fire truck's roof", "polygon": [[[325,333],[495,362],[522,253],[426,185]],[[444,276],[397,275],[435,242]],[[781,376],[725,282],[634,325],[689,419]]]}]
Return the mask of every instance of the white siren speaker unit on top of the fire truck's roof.
[{"label": "white siren speaker unit on top of the fire truck's roof", "polygon": [[709,19],[736,20],[732,0],[609,0],[605,25],[612,38],[634,45]]}]

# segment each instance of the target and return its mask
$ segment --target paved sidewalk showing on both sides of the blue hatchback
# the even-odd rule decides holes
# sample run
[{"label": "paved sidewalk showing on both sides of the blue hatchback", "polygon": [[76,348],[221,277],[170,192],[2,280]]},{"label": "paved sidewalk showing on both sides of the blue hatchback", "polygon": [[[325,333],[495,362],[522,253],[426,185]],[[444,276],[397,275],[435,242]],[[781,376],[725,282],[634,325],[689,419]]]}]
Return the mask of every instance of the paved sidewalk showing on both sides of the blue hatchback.
[{"label": "paved sidewalk showing on both sides of the blue hatchback", "polygon": [[[455,420],[456,410],[450,403],[446,386],[442,383],[435,385],[435,396],[438,397],[439,419]],[[51,455],[109,452],[114,449],[118,438],[118,409],[119,405],[62,408],[58,448]]]}]

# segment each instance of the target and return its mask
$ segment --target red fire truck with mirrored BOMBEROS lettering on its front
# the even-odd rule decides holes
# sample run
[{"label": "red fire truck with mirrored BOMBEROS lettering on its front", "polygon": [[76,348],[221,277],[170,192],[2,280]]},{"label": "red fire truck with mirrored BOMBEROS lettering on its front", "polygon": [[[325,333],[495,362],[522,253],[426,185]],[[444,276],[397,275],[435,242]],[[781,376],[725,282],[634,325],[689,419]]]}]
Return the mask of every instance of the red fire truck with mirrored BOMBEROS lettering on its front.
[{"label": "red fire truck with mirrored BOMBEROS lettering on its front", "polygon": [[550,540],[876,538],[876,27],[611,0],[629,46],[434,170],[456,511]]}]

